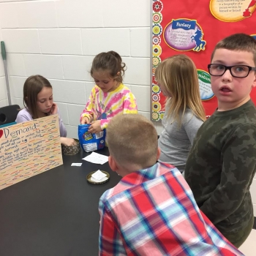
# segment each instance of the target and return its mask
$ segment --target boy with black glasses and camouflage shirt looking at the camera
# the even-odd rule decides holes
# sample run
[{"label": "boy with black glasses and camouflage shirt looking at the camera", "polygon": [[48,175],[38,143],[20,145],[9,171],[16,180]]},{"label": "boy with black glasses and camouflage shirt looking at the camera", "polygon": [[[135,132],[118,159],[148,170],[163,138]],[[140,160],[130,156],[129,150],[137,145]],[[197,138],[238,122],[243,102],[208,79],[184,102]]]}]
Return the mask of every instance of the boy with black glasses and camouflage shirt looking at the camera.
[{"label": "boy with black glasses and camouflage shirt looking at the camera", "polygon": [[236,247],[252,230],[249,192],[256,170],[256,40],[233,34],[217,43],[208,70],[218,99],[215,113],[200,127],[185,178],[200,210]]}]

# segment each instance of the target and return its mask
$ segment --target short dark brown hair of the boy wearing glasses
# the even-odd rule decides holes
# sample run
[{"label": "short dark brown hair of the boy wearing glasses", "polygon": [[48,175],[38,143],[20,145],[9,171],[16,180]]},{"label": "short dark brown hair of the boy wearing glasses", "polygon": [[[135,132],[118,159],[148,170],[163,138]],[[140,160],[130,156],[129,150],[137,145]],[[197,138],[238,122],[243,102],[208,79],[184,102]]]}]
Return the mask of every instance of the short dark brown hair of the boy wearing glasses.
[{"label": "short dark brown hair of the boy wearing glasses", "polygon": [[249,34],[231,34],[217,43],[213,53],[211,53],[211,61],[214,59],[214,53],[217,49],[242,50],[253,54],[253,61],[256,65],[256,40]]}]

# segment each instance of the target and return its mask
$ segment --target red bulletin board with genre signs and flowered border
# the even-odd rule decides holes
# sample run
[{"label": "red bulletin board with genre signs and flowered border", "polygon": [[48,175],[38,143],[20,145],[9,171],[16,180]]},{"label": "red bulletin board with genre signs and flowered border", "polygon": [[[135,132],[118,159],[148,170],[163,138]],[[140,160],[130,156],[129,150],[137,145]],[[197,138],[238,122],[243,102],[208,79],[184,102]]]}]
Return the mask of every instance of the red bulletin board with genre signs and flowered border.
[{"label": "red bulletin board with genre signs and flowered border", "polygon": [[[152,8],[152,120],[161,120],[165,113],[165,97],[154,71],[160,61],[176,54],[186,54],[195,62],[203,106],[206,116],[211,116],[217,108],[207,69],[211,53],[230,34],[255,37],[256,0],[162,0],[152,1]],[[256,102],[255,90],[251,97]]]}]

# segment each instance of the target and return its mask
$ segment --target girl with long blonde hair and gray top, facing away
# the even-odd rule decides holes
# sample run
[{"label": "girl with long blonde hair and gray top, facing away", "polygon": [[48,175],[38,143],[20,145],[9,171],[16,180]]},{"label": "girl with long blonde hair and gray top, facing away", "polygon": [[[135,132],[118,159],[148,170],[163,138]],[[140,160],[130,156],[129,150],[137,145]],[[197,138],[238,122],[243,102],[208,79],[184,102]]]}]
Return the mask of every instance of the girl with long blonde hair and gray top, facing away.
[{"label": "girl with long blonde hair and gray top, facing away", "polygon": [[158,140],[159,162],[175,165],[183,173],[197,130],[206,120],[197,69],[192,59],[181,54],[162,61],[155,77],[167,97]]}]

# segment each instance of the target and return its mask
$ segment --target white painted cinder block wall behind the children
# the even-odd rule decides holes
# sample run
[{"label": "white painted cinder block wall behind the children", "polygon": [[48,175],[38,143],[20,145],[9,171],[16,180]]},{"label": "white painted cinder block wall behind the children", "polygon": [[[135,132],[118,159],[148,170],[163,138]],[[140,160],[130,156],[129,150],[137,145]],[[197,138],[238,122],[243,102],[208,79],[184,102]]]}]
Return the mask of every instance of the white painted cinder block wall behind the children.
[{"label": "white painted cinder block wall behind the children", "polygon": [[[79,116],[94,83],[97,53],[116,50],[127,64],[124,83],[150,118],[151,0],[0,0],[0,39],[7,49],[12,103],[23,107],[23,83],[43,75],[53,85],[68,136],[77,138]],[[0,61],[0,107],[7,105]],[[162,125],[156,124],[160,134]],[[256,214],[256,180],[252,184]]]}]

